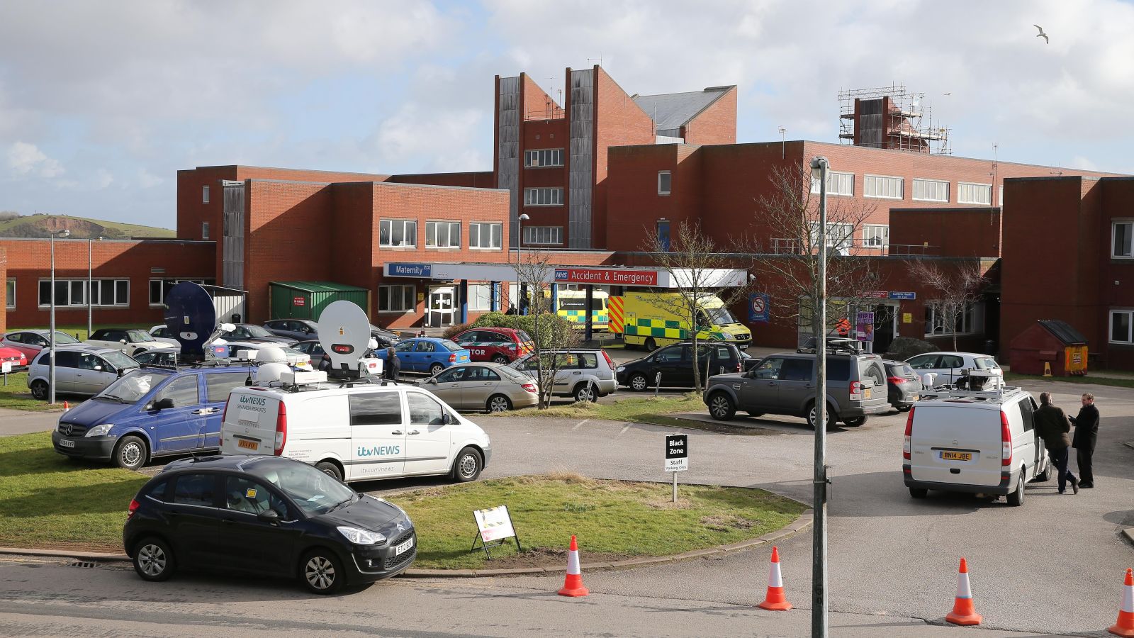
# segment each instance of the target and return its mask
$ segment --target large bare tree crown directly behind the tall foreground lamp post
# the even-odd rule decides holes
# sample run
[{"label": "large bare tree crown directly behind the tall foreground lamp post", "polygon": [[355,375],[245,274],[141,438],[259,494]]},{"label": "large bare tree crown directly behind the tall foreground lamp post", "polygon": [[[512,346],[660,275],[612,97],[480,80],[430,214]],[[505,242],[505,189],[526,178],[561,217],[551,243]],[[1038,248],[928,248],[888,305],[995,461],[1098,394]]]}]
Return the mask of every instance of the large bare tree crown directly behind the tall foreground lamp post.
[{"label": "large bare tree crown directly behind the tall foreground lamp post", "polygon": [[[775,320],[810,327],[811,336],[820,330],[849,326],[850,309],[873,307],[870,292],[882,287],[881,276],[863,254],[878,253],[881,246],[855,242],[863,223],[874,207],[850,198],[827,200],[827,251],[819,243],[819,184],[811,168],[773,168],[770,195],[761,196],[755,215],[755,237],[743,237],[746,252],[758,253],[752,270],[758,288],[772,301]],[[820,257],[827,259],[827,326],[814,318],[821,303],[819,294]]]}]

